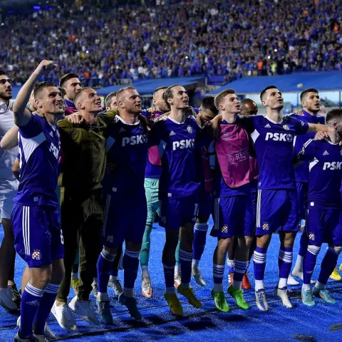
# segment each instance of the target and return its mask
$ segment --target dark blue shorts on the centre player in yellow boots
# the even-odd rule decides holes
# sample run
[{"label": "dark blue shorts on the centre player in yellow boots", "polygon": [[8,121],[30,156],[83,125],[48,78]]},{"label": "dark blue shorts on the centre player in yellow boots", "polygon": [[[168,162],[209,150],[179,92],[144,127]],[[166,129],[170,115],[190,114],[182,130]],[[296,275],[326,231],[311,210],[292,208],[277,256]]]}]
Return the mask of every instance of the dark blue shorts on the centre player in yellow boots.
[{"label": "dark blue shorts on the centre player in yellow boots", "polygon": [[195,196],[177,199],[160,199],[159,225],[167,230],[177,230],[191,222],[196,223],[198,214],[198,199]]}]

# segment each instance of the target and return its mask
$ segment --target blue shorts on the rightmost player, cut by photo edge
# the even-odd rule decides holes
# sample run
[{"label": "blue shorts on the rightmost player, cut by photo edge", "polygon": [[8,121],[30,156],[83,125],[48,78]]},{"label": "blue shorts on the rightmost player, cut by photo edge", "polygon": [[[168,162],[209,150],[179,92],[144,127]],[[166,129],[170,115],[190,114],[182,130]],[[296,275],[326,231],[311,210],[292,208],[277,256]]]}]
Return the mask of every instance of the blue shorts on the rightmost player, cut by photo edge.
[{"label": "blue shorts on the rightmost player, cut by photo edge", "polygon": [[321,246],[323,242],[342,246],[342,210],[309,209],[306,236],[309,244]]}]

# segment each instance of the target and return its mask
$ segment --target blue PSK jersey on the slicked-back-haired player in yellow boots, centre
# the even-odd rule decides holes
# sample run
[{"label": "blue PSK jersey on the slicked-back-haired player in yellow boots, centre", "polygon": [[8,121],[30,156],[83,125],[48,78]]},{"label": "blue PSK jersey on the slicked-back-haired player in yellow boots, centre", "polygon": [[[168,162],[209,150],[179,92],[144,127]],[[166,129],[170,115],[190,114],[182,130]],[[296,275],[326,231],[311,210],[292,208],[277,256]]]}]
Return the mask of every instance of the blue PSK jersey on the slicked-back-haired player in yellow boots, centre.
[{"label": "blue PSK jersey on the slicked-back-haired player in yellow boots, centre", "polygon": [[197,195],[201,188],[199,132],[193,116],[182,123],[165,116],[150,131],[150,146],[157,145],[162,158],[159,197],[179,198]]}]

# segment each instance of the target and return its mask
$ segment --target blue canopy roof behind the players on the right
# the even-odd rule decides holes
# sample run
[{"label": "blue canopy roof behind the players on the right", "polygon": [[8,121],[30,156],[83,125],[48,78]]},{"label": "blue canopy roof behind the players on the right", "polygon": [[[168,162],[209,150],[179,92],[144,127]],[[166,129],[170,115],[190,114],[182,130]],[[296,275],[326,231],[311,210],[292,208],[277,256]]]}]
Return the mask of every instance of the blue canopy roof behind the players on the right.
[{"label": "blue canopy roof behind the players on the right", "polygon": [[342,90],[342,71],[292,73],[284,76],[244,77],[212,90],[207,95],[216,95],[221,90],[233,88],[238,94],[261,93],[266,86],[274,85],[281,91]]}]

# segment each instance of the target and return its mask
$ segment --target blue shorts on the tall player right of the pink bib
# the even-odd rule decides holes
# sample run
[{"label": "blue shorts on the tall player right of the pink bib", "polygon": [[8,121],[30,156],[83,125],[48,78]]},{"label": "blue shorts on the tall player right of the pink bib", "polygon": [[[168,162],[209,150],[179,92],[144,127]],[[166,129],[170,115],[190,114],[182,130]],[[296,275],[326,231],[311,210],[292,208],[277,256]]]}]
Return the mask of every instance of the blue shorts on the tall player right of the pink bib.
[{"label": "blue shorts on the tall player right of the pink bib", "polygon": [[296,190],[258,190],[257,236],[277,231],[298,232],[299,218]]}]

